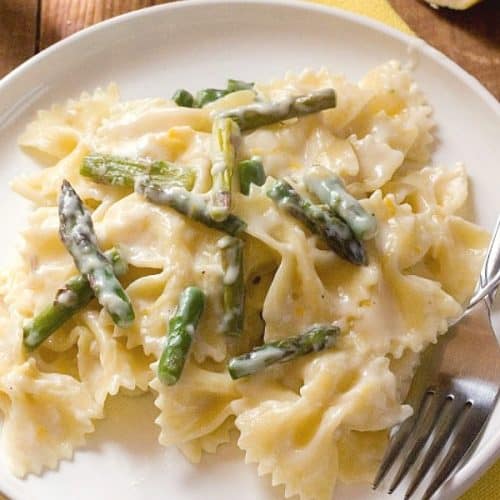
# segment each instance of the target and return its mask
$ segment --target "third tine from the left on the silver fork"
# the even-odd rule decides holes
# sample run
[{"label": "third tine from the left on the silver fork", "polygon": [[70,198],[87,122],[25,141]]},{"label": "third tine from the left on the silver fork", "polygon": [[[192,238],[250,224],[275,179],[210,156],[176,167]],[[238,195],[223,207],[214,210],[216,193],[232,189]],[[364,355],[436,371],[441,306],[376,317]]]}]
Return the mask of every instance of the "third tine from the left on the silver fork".
[{"label": "third tine from the left on the silver fork", "polygon": [[447,405],[444,409],[444,413],[440,416],[436,424],[436,433],[434,435],[434,440],[430,445],[427,453],[424,455],[423,461],[420,467],[412,478],[410,486],[405,494],[405,500],[408,500],[415,490],[419,487],[422,479],[425,477],[431,465],[434,463],[437,455],[443,449],[443,446],[448,441],[450,434],[452,433],[458,418],[461,415],[463,406],[457,407],[456,405]]}]

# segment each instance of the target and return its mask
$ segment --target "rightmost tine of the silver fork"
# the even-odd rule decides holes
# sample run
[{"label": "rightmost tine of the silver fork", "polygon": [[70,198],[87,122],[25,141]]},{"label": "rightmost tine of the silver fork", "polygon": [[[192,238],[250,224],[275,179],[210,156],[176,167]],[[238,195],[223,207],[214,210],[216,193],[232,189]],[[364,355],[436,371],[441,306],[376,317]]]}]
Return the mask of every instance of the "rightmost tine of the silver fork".
[{"label": "rightmost tine of the silver fork", "polygon": [[[483,408],[473,408],[470,403],[464,410],[467,412],[459,422],[459,431],[453,439],[453,444],[444,457],[434,479],[425,490],[423,500],[429,499],[446,481],[465,453],[472,446],[488,418],[488,411]],[[474,411],[476,410],[476,411]]]}]

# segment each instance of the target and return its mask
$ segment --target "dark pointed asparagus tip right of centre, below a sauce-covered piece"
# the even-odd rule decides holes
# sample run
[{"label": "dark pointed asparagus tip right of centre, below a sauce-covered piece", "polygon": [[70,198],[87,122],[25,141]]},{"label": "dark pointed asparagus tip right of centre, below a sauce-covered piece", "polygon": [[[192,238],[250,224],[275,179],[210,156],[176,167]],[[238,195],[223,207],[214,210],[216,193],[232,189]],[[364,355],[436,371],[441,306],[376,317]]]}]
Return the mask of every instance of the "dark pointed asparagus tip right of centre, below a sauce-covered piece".
[{"label": "dark pointed asparagus tip right of centre, below a sauce-covered piece", "polygon": [[366,265],[363,245],[354,237],[349,226],[333,215],[328,207],[313,205],[303,199],[285,181],[276,182],[267,191],[267,196],[292,217],[303,222],[311,232],[320,235],[340,257],[352,264]]}]

